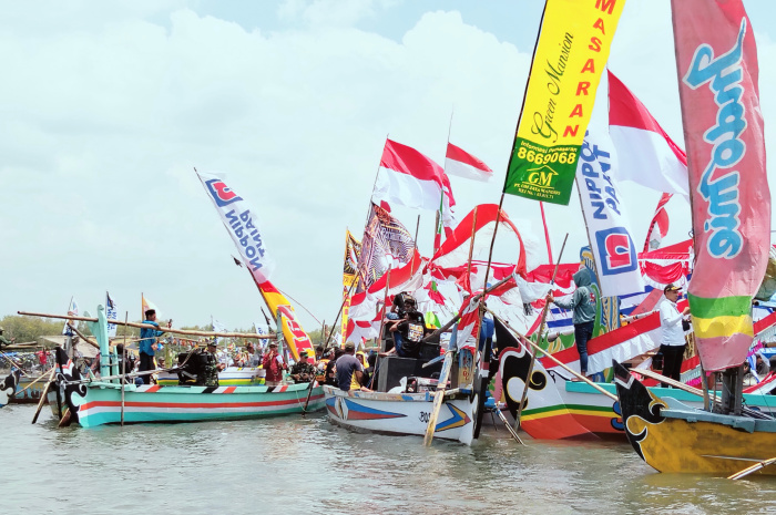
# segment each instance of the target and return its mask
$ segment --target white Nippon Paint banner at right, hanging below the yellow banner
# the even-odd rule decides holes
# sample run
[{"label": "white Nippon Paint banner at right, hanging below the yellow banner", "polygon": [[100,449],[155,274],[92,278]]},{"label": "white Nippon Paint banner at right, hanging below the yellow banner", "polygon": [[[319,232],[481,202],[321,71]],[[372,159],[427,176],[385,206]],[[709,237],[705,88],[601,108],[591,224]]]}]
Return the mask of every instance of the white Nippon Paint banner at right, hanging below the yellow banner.
[{"label": "white Nippon Paint banner at right, hanging below the yellow banner", "polygon": [[639,255],[614,178],[616,154],[609,136],[585,134],[576,166],[576,187],[593,246],[603,297],[644,290]]}]

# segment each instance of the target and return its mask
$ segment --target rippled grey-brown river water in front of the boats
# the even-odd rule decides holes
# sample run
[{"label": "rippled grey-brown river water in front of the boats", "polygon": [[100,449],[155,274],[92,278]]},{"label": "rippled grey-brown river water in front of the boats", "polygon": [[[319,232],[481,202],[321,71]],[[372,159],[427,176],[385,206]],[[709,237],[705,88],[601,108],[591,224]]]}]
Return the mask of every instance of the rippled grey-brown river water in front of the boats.
[{"label": "rippled grey-brown river water in front of the boats", "polygon": [[658,474],[626,443],[486,428],[471,447],[358,434],[320,414],[58,429],[0,409],[0,514],[776,512],[776,480]]}]

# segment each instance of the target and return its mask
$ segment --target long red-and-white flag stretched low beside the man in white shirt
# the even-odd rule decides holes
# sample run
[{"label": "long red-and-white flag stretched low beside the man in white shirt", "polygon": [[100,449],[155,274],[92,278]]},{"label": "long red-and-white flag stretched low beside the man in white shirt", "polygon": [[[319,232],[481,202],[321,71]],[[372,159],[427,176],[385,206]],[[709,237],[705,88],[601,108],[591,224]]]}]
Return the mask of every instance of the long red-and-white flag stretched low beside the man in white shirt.
[{"label": "long red-and-white flag stretched low beside the man in white shirt", "polygon": [[[588,373],[603,372],[612,365],[612,360],[626,361],[660,347],[661,327],[660,313],[654,312],[633,323],[623,326],[588,342]],[[580,353],[572,346],[552,354],[553,358],[580,371]],[[566,377],[569,373],[549,358],[541,358],[547,370],[553,370]]]}]

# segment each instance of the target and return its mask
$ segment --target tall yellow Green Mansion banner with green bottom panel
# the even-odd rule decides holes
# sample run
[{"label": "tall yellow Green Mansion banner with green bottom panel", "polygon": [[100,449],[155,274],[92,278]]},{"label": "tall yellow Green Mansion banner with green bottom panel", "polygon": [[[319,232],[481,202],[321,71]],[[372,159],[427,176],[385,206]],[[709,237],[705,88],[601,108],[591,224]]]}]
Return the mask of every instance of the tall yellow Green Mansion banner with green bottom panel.
[{"label": "tall yellow Green Mansion banner with green bottom panel", "polygon": [[504,193],[569,204],[625,0],[547,0]]}]

